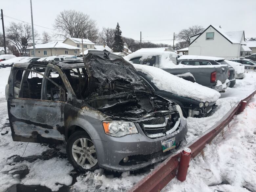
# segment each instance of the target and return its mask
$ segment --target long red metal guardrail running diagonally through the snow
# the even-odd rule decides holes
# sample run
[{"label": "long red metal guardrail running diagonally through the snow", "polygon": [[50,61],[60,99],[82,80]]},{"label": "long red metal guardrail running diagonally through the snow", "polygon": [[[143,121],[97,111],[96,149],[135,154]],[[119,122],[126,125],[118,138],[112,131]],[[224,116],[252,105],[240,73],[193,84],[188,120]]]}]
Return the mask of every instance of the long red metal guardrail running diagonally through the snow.
[{"label": "long red metal guardrail running diagonally through the snow", "polygon": [[[205,145],[209,143],[213,138],[215,138],[236,114],[243,110],[240,110],[242,101],[248,102],[255,94],[256,91],[251,93],[240,102],[237,102],[236,105],[232,107],[230,111],[224,115],[224,117],[218,123],[205,131],[205,134],[202,137],[194,139],[185,146],[190,148],[192,151],[191,159],[195,158],[203,150]],[[176,172],[179,167],[178,159],[180,157],[181,150],[177,154],[174,154],[164,160],[158,167],[152,170],[148,175],[146,175],[142,180],[140,180],[130,190],[128,190],[128,192],[160,192],[160,190],[163,189],[165,185],[167,185],[174,177],[176,177]]]}]

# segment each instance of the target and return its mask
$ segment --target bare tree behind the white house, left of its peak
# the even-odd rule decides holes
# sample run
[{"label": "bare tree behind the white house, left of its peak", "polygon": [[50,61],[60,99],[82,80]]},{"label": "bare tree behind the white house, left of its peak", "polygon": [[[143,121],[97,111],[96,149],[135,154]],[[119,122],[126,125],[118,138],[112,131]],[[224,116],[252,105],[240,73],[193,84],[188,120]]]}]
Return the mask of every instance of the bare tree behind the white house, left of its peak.
[{"label": "bare tree behind the white house, left of its peak", "polygon": [[186,41],[188,44],[190,43],[190,36],[203,32],[204,28],[199,25],[194,25],[189,27],[188,29],[182,29],[176,37],[182,41]]}]

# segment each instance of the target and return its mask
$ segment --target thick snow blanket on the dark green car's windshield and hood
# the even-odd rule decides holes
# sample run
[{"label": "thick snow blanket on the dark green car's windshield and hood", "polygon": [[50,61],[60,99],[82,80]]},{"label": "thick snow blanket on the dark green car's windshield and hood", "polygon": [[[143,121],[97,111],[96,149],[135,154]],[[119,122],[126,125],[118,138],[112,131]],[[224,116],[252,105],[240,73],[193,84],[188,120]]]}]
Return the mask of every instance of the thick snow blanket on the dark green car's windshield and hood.
[{"label": "thick snow blanket on the dark green car's windshield and hood", "polygon": [[162,69],[139,64],[133,64],[133,66],[137,71],[152,79],[152,82],[160,90],[203,102],[215,102],[221,96],[219,92],[213,89],[187,81]]}]

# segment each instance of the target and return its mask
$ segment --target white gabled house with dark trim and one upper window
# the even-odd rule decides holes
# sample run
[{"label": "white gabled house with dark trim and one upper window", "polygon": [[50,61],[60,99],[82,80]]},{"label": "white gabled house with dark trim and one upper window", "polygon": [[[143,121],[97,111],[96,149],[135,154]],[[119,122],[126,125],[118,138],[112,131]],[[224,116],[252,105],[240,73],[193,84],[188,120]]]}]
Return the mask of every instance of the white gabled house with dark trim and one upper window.
[{"label": "white gabled house with dark trim and one upper window", "polygon": [[224,57],[225,59],[245,57],[251,50],[245,43],[245,32],[227,32],[210,25],[202,33],[190,37],[189,55]]}]

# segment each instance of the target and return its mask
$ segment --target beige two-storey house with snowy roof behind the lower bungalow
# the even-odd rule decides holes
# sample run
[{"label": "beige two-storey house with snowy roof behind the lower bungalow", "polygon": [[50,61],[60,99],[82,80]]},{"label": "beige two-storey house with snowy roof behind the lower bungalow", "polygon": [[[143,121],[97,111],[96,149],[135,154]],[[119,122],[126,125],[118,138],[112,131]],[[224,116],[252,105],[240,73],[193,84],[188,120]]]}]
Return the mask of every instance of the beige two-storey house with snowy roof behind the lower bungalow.
[{"label": "beige two-storey house with snowy roof behind the lower bungalow", "polygon": [[[74,46],[77,48],[81,48],[80,53],[82,52],[82,39],[80,39],[80,38],[68,37],[62,43],[65,43],[67,45],[71,45],[71,46]],[[93,43],[89,39],[83,39],[84,51],[87,49],[94,49],[94,45],[95,45],[95,43]]]}]

